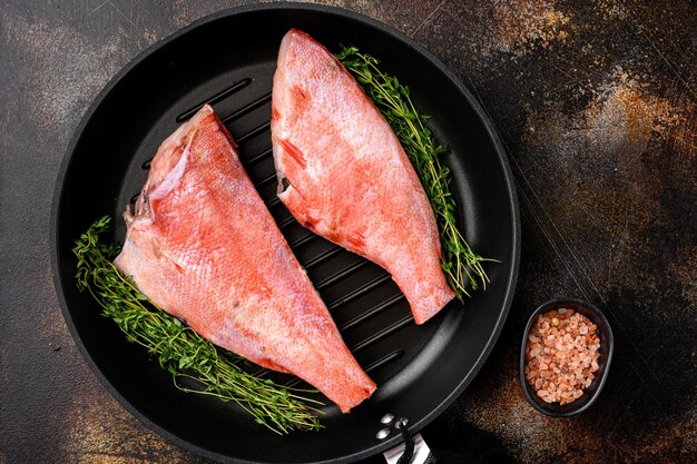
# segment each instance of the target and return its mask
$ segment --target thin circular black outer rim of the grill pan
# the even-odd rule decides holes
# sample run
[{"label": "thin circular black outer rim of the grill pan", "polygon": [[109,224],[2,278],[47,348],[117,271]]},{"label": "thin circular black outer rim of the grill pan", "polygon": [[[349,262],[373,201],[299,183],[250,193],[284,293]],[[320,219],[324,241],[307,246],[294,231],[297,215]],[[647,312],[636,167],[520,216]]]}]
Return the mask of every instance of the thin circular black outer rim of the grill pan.
[{"label": "thin circular black outer rim of the grill pan", "polygon": [[[508,162],[507,150],[504,149],[503,144],[501,142],[500,136],[498,135],[498,131],[493,122],[487,115],[487,111],[483,109],[479,100],[470,92],[470,90],[467,87],[464,87],[464,85],[454,75],[454,72],[451,71],[448,67],[445,67],[445,65],[442,63],[439,58],[436,58],[434,55],[432,55],[430,51],[428,51],[425,48],[423,48],[421,45],[419,45],[416,41],[414,41],[412,38],[408,37],[406,34],[404,34],[403,32],[394,29],[393,27],[386,23],[375,20],[373,18],[366,17],[361,13],[356,13],[351,10],[342,9],[342,8],[327,7],[327,6],[322,6],[322,4],[312,4],[312,3],[277,2],[277,3],[240,6],[240,7],[224,9],[224,10],[214,12],[212,14],[205,16],[203,18],[199,18],[193,21],[192,23],[185,26],[184,28],[174,31],[167,37],[164,37],[157,42],[145,48],[143,51],[136,55],[135,58],[132,58],[124,68],[121,68],[107,82],[104,89],[97,95],[97,97],[94,99],[91,105],[87,108],[86,112],[80,119],[80,122],[75,129],[75,132],[70,139],[68,148],[61,160],[58,176],[56,178],[56,184],[53,187],[53,200],[51,205],[50,246],[51,246],[51,267],[53,270],[53,284],[56,287],[56,293],[57,293],[59,304],[61,306],[63,319],[66,320],[70,335],[72,336],[72,339],[75,340],[78,347],[78,351],[80,352],[82,357],[87,361],[87,364],[89,365],[90,369],[97,376],[97,378],[102,384],[102,386],[109,392],[109,394],[112,397],[115,397],[117,402],[124,408],[126,408],[131,415],[138,418],[138,421],[140,421],[149,430],[156,432],[157,434],[165,437],[169,442],[175,443],[176,445],[185,450],[192,451],[198,455],[214,460],[216,462],[249,463],[249,464],[258,463],[258,461],[246,461],[246,460],[240,460],[237,457],[230,457],[227,455],[222,455],[218,453],[210,452],[161,427],[160,425],[151,421],[147,415],[145,415],[135,406],[132,406],[114,387],[114,385],[107,379],[107,377],[102,373],[101,368],[97,365],[95,359],[88,353],[87,347],[85,346],[81,337],[78,334],[77,327],[72,320],[72,316],[70,315],[68,303],[66,300],[66,294],[63,292],[63,284],[60,277],[61,267],[60,267],[60,256],[58,253],[59,224],[60,224],[60,213],[61,213],[60,205],[61,205],[61,199],[62,199],[62,195],[65,190],[65,177],[72,165],[72,158],[73,158],[72,155],[75,152],[75,149],[77,148],[77,145],[82,138],[85,128],[88,125],[88,122],[91,120],[96,110],[101,106],[105,98],[124,79],[125,76],[127,76],[136,67],[138,67],[147,57],[156,53],[163,47],[169,45],[176,39],[189,33],[190,31],[202,26],[205,26],[207,23],[217,21],[219,19],[226,18],[229,16],[238,16],[238,14],[245,14],[245,13],[251,13],[251,12],[259,12],[259,11],[276,11],[276,10],[312,11],[312,12],[341,16],[341,17],[364,23],[369,27],[379,29],[380,31],[389,36],[392,36],[397,41],[405,43],[408,47],[411,47],[416,52],[422,55],[432,66],[434,66],[438,69],[438,71],[442,72],[454,85],[457,90],[464,97],[468,105],[470,105],[471,109],[477,113],[478,119],[482,122],[482,126],[487,132],[487,136],[489,137],[492,144],[492,148],[498,156],[498,162],[501,167],[501,170],[504,177],[503,181],[505,185],[507,195],[509,197],[508,203],[509,203],[510,215],[512,219],[511,225],[510,225],[512,227],[512,234],[511,234],[512,263],[510,266],[510,272],[508,273],[508,279],[505,284],[502,285],[504,289],[503,298],[502,298],[502,308],[501,308],[498,319],[495,320],[495,325],[491,333],[491,336],[487,340],[484,349],[481,352],[480,356],[477,358],[472,368],[462,376],[462,379],[460,381],[458,386],[449,395],[443,397],[434,409],[432,409],[425,416],[421,417],[419,421],[415,421],[413,424],[410,424],[410,428],[413,432],[418,432],[421,428],[423,428],[425,425],[432,422],[435,417],[438,417],[450,404],[452,404],[454,399],[458,396],[460,396],[462,392],[467,388],[467,386],[472,382],[472,379],[477,376],[477,374],[479,373],[479,371],[485,363],[487,358],[491,354],[491,351],[493,349],[501,334],[503,324],[508,317],[510,306],[512,304],[514,290],[516,290],[516,283],[518,279],[518,272],[519,272],[521,230],[520,230],[520,217],[519,217],[519,208],[518,208],[518,196],[516,191],[511,167],[510,167],[510,164]],[[375,455],[390,447],[393,447],[397,445],[399,443],[401,443],[401,441],[402,441],[401,436],[394,435],[381,443],[373,444],[373,445],[369,444],[369,446],[366,446],[362,451],[342,456],[340,460],[334,458],[334,460],[328,460],[328,461],[314,461],[314,463],[321,464],[321,463],[336,463],[336,462],[354,462],[361,458]]]}]

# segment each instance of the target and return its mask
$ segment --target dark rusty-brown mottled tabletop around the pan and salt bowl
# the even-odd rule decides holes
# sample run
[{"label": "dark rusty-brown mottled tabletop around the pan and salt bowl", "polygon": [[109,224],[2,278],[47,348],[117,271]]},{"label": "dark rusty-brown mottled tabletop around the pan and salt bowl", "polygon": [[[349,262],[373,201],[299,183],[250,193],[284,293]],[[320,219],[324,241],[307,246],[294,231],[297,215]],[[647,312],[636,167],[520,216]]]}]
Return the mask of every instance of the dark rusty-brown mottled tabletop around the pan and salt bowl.
[{"label": "dark rusty-brown mottled tabletop around the pan and salt bowl", "polygon": [[[50,263],[58,168],[80,118],[148,46],[235,1],[0,2],[0,463],[204,463],[102,387]],[[695,462],[697,8],[688,1],[327,1],[414,38],[480,99],[518,188],[522,258],[499,343],[423,435],[443,462]],[[616,357],[566,419],[518,381],[527,316],[605,309]],[[375,456],[365,463],[380,463]]]}]

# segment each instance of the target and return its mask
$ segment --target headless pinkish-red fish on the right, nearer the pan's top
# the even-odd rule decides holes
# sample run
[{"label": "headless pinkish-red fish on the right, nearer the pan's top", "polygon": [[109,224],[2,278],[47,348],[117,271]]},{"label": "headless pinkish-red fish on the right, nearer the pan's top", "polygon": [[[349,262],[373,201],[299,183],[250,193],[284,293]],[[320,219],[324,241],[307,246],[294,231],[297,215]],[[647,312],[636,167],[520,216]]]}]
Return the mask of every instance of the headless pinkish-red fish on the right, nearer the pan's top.
[{"label": "headless pinkish-red fish on the right, nearer the pan's top", "polygon": [[271,128],[278,197],[301,224],[385,268],[416,324],[454,297],[400,141],[338,60],[296,29],[281,43]]}]

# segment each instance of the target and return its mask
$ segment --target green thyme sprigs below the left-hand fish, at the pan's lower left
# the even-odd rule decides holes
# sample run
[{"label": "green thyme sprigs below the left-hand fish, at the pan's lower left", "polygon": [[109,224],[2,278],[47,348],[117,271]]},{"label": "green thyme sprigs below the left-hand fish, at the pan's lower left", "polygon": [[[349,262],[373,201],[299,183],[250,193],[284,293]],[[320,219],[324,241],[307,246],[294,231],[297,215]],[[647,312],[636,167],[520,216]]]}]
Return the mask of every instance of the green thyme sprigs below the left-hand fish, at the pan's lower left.
[{"label": "green thyme sprigs below the left-hand fish, at the pan's lower left", "polygon": [[157,356],[160,366],[173,375],[176,387],[184,392],[233,401],[258,424],[279,434],[321,428],[315,406],[322,403],[302,396],[312,391],[287,388],[244,372],[233,363],[239,357],[216,347],[138,292],[111,263],[119,247],[100,240],[110,223],[108,216],[98,219],[76,240],[76,280],[78,289],[95,297],[102,307],[101,314],[114,319],[129,342]]}]

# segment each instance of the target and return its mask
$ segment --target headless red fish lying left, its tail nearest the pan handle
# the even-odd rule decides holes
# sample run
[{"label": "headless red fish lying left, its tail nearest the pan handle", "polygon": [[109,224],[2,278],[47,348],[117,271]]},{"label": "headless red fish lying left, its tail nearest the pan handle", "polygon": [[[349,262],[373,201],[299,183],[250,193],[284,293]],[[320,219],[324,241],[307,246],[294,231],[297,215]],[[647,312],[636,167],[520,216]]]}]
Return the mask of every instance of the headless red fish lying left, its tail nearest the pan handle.
[{"label": "headless red fish lying left, its tail nearest the pan handle", "polygon": [[305,379],[342,412],[374,391],[209,106],[153,159],[116,266],[214,344]]}]

